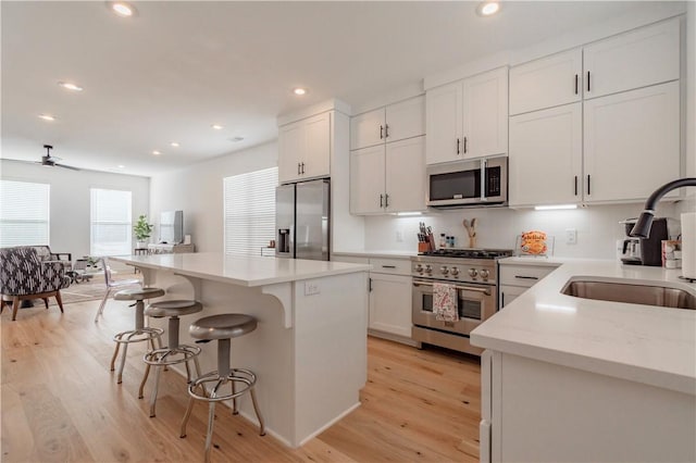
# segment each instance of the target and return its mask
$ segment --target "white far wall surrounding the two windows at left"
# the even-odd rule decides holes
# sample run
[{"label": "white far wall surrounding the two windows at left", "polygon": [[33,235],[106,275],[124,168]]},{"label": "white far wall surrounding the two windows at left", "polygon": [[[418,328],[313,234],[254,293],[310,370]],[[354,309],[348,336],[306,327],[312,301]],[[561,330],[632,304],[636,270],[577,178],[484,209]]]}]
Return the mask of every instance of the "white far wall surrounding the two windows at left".
[{"label": "white far wall surrounding the two windows at left", "polygon": [[89,254],[90,188],[132,191],[134,223],[149,210],[148,177],[42,167],[9,160],[0,160],[0,176],[51,186],[49,243],[54,252],[71,252],[73,260]]}]

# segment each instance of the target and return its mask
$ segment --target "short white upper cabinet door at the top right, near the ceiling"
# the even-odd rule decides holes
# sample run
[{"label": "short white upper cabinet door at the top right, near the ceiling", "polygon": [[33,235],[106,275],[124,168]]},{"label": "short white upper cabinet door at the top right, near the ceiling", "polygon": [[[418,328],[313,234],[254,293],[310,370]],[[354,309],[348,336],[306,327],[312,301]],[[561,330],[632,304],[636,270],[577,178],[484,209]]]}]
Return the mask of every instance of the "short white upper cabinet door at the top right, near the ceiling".
[{"label": "short white upper cabinet door at the top right, near the ceiling", "polygon": [[585,99],[680,78],[679,20],[585,47]]}]

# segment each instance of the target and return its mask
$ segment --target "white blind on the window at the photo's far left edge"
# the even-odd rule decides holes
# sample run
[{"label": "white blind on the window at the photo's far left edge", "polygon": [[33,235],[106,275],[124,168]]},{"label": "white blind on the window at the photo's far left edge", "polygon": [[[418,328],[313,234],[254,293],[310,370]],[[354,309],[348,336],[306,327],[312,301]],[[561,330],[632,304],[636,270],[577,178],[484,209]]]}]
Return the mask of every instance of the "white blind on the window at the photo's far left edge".
[{"label": "white blind on the window at the photo's far left edge", "polygon": [[49,245],[50,185],[0,180],[0,247]]}]

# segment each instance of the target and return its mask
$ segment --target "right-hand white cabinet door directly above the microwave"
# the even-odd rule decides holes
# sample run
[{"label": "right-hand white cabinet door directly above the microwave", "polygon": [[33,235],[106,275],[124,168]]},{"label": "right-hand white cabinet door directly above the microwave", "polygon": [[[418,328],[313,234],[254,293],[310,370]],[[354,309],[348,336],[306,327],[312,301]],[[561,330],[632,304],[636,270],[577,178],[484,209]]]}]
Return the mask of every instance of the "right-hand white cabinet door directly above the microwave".
[{"label": "right-hand white cabinet door directly above the microwave", "polygon": [[463,82],[463,158],[508,152],[508,68]]}]

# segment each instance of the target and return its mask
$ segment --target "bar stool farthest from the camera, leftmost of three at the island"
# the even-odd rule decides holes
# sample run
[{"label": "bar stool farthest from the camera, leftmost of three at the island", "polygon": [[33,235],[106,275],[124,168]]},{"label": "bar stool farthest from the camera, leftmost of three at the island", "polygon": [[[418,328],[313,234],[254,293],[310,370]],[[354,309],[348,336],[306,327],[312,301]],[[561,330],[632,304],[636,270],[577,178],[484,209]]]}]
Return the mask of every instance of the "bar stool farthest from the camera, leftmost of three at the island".
[{"label": "bar stool farthest from the camera, leftmost of three at the island", "polygon": [[[111,371],[114,371],[114,365],[116,362],[116,356],[119,356],[119,348],[123,345],[123,353],[121,356],[121,362],[119,363],[119,372],[116,374],[116,383],[122,383],[123,367],[126,364],[126,354],[128,353],[128,345],[132,342],[142,342],[150,341],[152,345],[152,349],[157,349],[154,347],[154,339],[158,340],[160,347],[162,347],[162,333],[164,333],[160,328],[150,328],[145,326],[145,303],[142,302],[146,299],[159,298],[160,296],[164,296],[164,290],[160,288],[133,288],[133,289],[123,289],[114,295],[114,299],[117,301],[135,301],[135,329],[129,329],[127,331],[117,333],[113,340],[116,343],[116,349],[113,351],[113,356],[111,358]],[[146,368],[146,376],[150,370],[150,366]],[[142,397],[142,384],[140,385],[140,390],[138,397]]]}]

